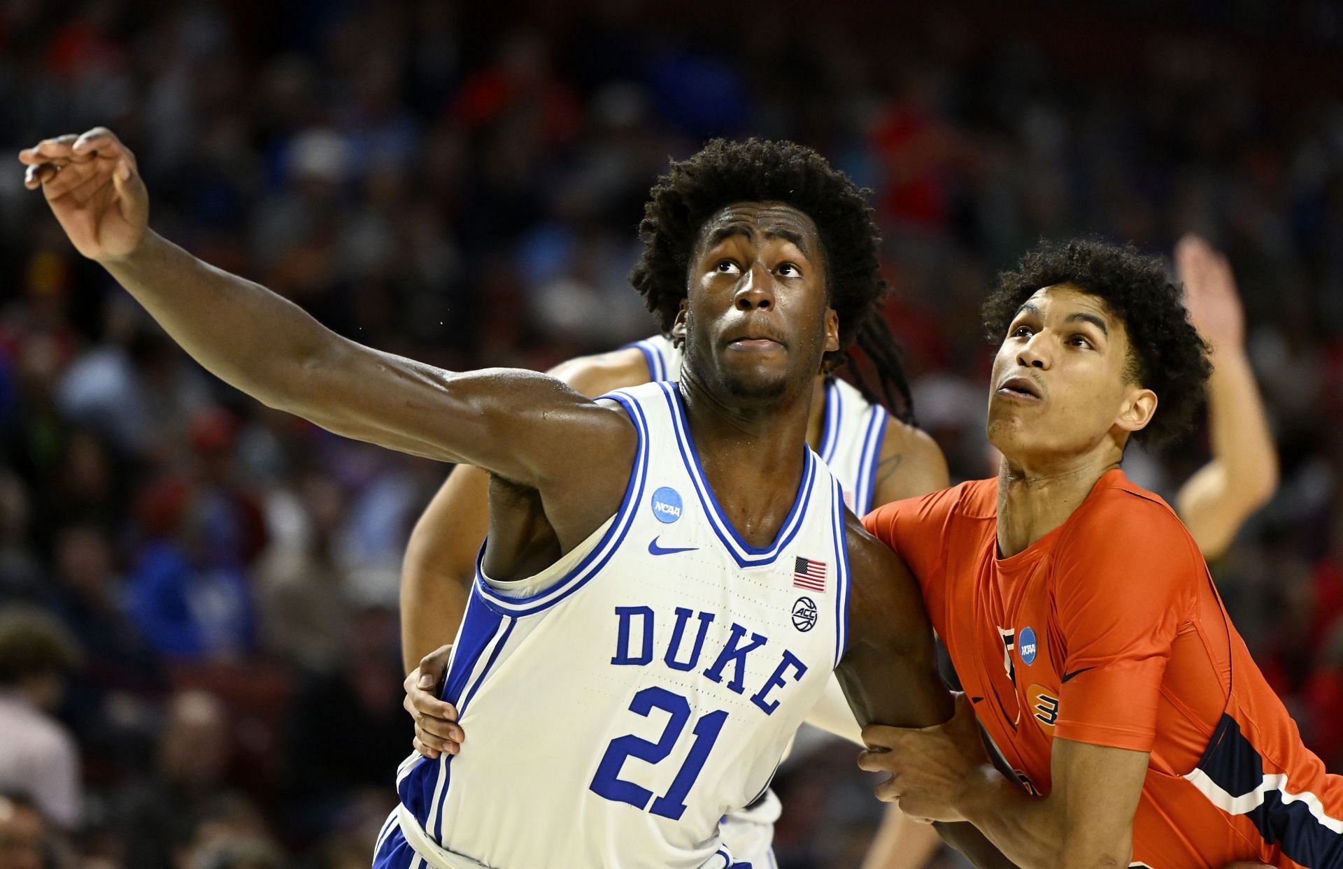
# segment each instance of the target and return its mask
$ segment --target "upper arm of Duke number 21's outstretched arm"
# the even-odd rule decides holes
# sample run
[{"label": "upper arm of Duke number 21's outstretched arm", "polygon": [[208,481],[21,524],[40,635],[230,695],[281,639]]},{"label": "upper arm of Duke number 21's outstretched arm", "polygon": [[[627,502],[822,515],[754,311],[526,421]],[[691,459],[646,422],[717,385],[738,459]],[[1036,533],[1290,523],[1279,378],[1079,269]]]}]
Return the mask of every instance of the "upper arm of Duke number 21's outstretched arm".
[{"label": "upper arm of Duke number 21's outstretched arm", "polygon": [[450,372],[348,340],[309,367],[302,391],[299,412],[336,434],[532,486],[637,445],[623,412],[547,375]]}]

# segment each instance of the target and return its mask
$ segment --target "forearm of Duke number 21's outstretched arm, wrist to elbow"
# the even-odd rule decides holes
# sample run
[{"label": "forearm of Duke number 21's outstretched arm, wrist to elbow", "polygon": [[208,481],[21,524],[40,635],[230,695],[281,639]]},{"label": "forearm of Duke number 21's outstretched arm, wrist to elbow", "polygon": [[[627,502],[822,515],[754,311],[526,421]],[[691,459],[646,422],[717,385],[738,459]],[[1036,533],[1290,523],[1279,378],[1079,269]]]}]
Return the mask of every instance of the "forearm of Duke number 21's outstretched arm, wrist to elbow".
[{"label": "forearm of Duke number 21's outstretched arm, wrist to elbow", "polygon": [[293,302],[152,231],[103,266],[196,361],[271,407],[290,410],[305,369],[340,340]]}]

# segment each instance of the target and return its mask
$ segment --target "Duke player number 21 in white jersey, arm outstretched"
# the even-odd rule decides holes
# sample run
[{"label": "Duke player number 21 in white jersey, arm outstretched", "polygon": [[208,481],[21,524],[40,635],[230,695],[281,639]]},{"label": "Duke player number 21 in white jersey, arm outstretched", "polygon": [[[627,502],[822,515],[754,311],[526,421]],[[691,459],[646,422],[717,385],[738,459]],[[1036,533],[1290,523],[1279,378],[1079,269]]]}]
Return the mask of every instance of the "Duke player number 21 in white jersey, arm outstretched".
[{"label": "Duke player number 21 in white jersey, arm outstretched", "polygon": [[633,277],[681,297],[682,379],[598,402],[359,345],[196,259],[148,231],[106,129],[20,161],[75,248],[227,383],[492,473],[445,690],[473,751],[403,764],[375,866],[729,866],[719,818],[768,786],[830,669],[861,724],[948,719],[917,586],[806,449],[813,380],[880,287],[870,208],[814,152],[713,142],[673,164]]}]

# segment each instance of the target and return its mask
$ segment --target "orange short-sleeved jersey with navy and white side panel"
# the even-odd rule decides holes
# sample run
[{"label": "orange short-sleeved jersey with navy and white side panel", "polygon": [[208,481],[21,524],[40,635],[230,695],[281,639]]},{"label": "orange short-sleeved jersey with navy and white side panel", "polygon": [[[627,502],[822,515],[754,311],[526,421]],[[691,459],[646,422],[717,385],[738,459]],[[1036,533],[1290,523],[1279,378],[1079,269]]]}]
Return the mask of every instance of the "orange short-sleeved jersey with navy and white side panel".
[{"label": "orange short-sleeved jersey with navy and white side panel", "polygon": [[1193,537],[1107,473],[1068,520],[998,556],[998,481],[886,504],[864,524],[919,578],[979,723],[1048,795],[1054,736],[1151,752],[1133,864],[1343,868],[1343,778],[1232,626]]}]

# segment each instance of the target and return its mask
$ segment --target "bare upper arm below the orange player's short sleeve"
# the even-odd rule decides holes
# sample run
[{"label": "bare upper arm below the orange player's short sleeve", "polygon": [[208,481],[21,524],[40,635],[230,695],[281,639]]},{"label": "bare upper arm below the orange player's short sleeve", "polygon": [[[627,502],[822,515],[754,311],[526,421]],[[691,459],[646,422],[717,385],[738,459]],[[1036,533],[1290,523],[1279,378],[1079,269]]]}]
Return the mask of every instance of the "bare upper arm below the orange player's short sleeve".
[{"label": "bare upper arm below the orange player's short sleeve", "polygon": [[1147,759],[1144,751],[1054,739],[1049,799],[1062,803],[1060,866],[1128,865]]}]

